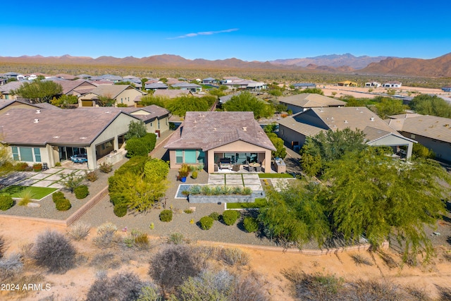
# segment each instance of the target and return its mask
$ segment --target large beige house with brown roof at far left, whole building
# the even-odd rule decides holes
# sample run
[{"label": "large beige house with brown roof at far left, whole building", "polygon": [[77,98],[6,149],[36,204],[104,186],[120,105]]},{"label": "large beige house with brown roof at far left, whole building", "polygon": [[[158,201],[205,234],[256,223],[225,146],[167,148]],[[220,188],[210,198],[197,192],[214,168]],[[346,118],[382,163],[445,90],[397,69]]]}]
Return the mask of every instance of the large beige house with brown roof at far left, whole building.
[{"label": "large beige house with brown roof at far left, whole building", "polygon": [[87,167],[95,169],[97,160],[121,149],[130,121],[139,120],[115,108],[11,109],[1,115],[0,128],[15,161],[53,167],[87,154]]}]

